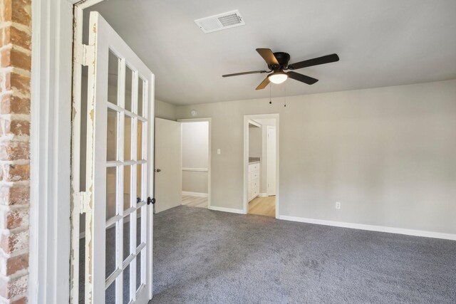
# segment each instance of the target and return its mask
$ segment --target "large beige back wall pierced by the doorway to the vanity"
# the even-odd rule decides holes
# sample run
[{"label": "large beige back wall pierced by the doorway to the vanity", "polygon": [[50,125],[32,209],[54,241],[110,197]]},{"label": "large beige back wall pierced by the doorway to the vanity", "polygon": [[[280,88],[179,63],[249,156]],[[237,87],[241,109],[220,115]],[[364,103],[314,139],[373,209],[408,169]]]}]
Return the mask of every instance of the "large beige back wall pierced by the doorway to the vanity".
[{"label": "large beige back wall pierced by the doorway to the vanity", "polygon": [[281,215],[456,234],[456,80],[294,96],[286,108],[182,106],[177,117],[192,109],[212,117],[213,206],[242,209],[243,115],[279,113]]}]

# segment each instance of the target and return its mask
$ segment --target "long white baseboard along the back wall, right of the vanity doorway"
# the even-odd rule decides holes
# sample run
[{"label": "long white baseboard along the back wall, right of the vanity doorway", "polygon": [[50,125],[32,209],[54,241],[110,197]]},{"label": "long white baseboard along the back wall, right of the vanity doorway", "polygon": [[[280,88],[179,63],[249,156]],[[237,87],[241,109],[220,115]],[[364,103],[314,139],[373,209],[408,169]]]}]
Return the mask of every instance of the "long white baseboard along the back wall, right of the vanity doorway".
[{"label": "long white baseboard along the back wall, right of the vanity doorway", "polygon": [[308,219],[308,218],[304,218],[304,217],[285,216],[285,215],[279,216],[279,219],[283,219],[285,221],[299,221],[301,223],[308,223],[308,224],[335,226],[335,227],[343,227],[343,228],[350,228],[350,229],[361,229],[361,230],[368,230],[368,231],[387,232],[389,234],[405,234],[408,236],[423,236],[426,238],[445,239],[445,240],[456,241],[456,234],[444,234],[441,232],[403,229],[403,228],[375,226],[375,225],[366,225],[366,224],[353,224],[353,223],[346,223],[343,221],[326,221],[323,219]]}]

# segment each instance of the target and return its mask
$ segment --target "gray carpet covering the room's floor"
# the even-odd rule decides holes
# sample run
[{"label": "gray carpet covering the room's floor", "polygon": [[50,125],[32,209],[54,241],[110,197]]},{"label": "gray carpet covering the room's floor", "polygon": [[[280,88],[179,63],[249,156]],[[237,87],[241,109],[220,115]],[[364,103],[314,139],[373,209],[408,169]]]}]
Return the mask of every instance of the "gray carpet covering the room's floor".
[{"label": "gray carpet covering the room's floor", "polygon": [[456,303],[456,242],[177,206],[151,303]]}]

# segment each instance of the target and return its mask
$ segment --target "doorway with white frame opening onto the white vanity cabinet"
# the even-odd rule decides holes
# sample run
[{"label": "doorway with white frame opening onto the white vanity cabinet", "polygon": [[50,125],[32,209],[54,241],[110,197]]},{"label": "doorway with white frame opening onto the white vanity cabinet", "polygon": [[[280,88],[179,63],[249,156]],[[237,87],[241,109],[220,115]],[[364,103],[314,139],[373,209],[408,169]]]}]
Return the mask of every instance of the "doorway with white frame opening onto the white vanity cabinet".
[{"label": "doorway with white frame opening onto the white vanity cabinet", "polygon": [[279,114],[244,116],[244,213],[279,216]]}]

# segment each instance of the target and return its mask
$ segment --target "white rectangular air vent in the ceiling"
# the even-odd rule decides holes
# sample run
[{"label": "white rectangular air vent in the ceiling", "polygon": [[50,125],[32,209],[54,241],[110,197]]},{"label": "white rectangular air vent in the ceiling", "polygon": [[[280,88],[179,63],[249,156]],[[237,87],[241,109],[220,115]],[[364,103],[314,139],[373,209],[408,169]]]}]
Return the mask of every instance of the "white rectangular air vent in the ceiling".
[{"label": "white rectangular air vent in the ceiling", "polygon": [[244,19],[238,10],[198,19],[195,20],[195,23],[197,23],[197,26],[204,33],[212,33],[213,31],[222,31],[227,28],[245,25]]}]

